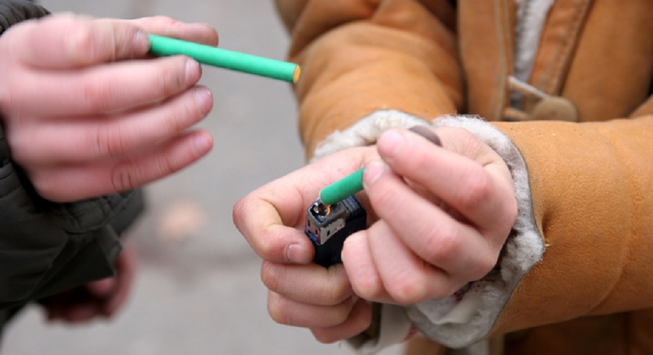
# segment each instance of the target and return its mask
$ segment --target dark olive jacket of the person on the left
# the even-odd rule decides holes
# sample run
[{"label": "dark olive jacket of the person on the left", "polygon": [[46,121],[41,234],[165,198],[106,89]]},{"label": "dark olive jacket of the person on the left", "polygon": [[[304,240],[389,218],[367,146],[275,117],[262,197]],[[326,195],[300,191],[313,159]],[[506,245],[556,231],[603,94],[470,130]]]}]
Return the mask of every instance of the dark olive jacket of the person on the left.
[{"label": "dark olive jacket of the person on the left", "polygon": [[[0,36],[11,25],[47,14],[31,1],[0,0]],[[12,161],[2,122],[0,117],[0,331],[30,301],[113,275],[120,233],[143,207],[138,191],[66,204],[41,198]]]}]

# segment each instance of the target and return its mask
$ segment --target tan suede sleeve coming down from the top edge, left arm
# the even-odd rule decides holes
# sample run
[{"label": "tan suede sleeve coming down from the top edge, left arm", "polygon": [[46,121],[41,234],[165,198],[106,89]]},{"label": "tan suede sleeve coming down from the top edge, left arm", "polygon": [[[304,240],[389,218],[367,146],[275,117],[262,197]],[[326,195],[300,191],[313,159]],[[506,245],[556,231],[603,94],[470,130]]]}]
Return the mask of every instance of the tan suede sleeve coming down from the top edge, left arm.
[{"label": "tan suede sleeve coming down from the top edge, left arm", "polygon": [[449,1],[276,2],[291,34],[290,60],[302,68],[295,91],[308,157],[329,133],[379,109],[424,119],[461,111]]}]

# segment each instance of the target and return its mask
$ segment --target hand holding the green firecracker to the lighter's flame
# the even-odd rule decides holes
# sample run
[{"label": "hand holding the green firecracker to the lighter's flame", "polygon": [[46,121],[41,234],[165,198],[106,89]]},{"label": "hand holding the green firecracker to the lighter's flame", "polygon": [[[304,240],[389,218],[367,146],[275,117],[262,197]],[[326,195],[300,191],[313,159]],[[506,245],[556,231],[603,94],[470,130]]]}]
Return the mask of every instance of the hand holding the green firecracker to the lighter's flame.
[{"label": "hand holding the green firecracker to the lighter's flame", "polygon": [[509,169],[462,128],[439,128],[442,148],[405,130],[381,135],[383,162],[364,170],[379,220],[344,244],[353,290],[370,301],[443,299],[487,275],[517,216]]}]

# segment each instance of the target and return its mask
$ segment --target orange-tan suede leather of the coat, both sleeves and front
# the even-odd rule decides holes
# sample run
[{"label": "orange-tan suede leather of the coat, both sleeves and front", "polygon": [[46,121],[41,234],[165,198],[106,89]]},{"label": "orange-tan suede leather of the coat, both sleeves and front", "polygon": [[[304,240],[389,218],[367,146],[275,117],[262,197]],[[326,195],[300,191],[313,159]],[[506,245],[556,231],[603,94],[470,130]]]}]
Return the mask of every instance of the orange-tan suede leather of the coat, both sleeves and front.
[{"label": "orange-tan suede leather of the coat, both sleeves and front", "polygon": [[[307,157],[374,111],[480,115],[518,147],[546,250],[489,335],[492,354],[653,353],[653,2],[557,0],[528,84],[578,122],[501,122],[509,0],[277,0]],[[518,109],[529,117],[539,98]],[[417,342],[417,341],[416,341]],[[496,345],[500,343],[500,345]],[[419,339],[407,354],[440,354]]]}]

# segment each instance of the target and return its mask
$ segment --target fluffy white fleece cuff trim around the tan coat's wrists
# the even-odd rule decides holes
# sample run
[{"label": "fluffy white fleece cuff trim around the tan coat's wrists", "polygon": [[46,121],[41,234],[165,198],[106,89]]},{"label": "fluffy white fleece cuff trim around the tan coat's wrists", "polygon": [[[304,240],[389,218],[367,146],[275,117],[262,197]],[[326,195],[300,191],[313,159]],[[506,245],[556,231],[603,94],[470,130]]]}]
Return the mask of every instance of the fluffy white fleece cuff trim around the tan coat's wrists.
[{"label": "fluffy white fleece cuff trim around the tan coat's wrists", "polygon": [[[429,123],[401,111],[377,111],[347,130],[329,135],[316,148],[314,159],[345,148],[375,144],[388,128],[416,125],[429,126]],[[517,284],[541,260],[544,244],[533,217],[526,163],[510,139],[478,117],[438,117],[432,127],[441,126],[465,128],[496,150],[511,170],[518,201],[518,218],[502,250],[498,273],[469,285],[469,290],[459,301],[449,297],[405,308],[410,321],[426,336],[448,347],[465,347],[487,336]],[[395,328],[384,325],[386,321],[381,318],[381,329]],[[399,335],[395,334],[394,338]],[[383,340],[375,342],[386,343]],[[364,346],[357,344],[355,348],[362,349]]]}]

